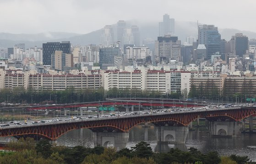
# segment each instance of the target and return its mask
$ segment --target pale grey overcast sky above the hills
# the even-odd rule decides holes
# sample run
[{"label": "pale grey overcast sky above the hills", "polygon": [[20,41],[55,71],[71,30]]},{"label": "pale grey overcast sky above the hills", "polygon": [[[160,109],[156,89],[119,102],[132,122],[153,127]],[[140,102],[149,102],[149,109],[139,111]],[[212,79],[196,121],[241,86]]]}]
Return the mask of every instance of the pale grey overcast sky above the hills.
[{"label": "pale grey overcast sky above the hills", "polygon": [[0,0],[0,32],[88,33],[118,20],[177,21],[256,32],[256,0]]}]

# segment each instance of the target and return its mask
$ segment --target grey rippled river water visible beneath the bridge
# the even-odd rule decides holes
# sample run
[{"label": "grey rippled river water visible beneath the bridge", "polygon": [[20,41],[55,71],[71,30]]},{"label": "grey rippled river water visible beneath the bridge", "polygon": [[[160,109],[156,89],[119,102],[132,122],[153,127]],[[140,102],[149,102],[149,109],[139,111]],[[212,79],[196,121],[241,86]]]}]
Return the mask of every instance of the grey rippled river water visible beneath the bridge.
[{"label": "grey rippled river water visible beneath the bridge", "polygon": [[[7,140],[10,140],[10,137],[0,138],[0,141]],[[158,144],[153,125],[149,128],[137,125],[129,131],[126,147],[131,148],[140,141],[149,143],[153,151],[156,152],[168,152],[170,148],[175,147],[186,151],[190,147],[194,147],[203,153],[217,151],[220,155],[247,155],[256,161],[256,134],[241,133],[236,138],[212,138],[206,128],[200,127],[189,131],[186,144]],[[59,145],[70,147],[76,145],[94,146],[92,131],[89,129],[71,130],[58,138],[57,142]]]}]

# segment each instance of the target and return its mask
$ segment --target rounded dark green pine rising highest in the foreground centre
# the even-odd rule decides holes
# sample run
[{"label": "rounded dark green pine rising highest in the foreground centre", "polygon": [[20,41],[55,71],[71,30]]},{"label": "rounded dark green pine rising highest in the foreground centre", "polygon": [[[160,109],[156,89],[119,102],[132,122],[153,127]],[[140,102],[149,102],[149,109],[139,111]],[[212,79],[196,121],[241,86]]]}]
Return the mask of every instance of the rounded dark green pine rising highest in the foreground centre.
[{"label": "rounded dark green pine rising highest in the foreground centre", "polygon": [[144,141],[139,142],[135,147],[131,147],[134,150],[134,153],[137,157],[149,158],[152,156],[152,148]]}]

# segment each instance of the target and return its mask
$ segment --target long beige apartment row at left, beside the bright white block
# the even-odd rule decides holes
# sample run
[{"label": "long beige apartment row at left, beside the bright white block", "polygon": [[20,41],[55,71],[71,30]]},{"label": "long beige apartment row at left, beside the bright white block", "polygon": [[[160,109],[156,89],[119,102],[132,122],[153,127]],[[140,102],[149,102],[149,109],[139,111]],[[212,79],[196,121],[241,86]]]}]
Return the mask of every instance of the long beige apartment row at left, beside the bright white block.
[{"label": "long beige apartment row at left, beside the bright white block", "polygon": [[33,90],[61,91],[68,87],[75,89],[98,89],[103,87],[101,74],[38,74],[35,71],[22,73],[6,73],[0,69],[0,89],[16,87],[32,88]]}]

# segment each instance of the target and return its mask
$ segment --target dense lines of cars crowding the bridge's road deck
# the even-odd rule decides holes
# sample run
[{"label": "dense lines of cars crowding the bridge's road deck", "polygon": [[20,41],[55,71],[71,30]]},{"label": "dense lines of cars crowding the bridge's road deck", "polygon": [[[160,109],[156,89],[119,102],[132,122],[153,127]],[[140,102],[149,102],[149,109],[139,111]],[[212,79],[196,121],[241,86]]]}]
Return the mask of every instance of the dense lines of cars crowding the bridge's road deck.
[{"label": "dense lines of cars crowding the bridge's road deck", "polygon": [[[193,112],[197,110],[209,110],[209,109],[218,109],[218,108],[235,108],[235,107],[246,107],[246,106],[256,106],[256,104],[225,104],[225,105],[218,105],[218,104],[210,104],[205,105],[204,107],[192,107],[192,108],[177,108],[177,107],[171,107],[171,108],[164,108],[164,107],[149,107],[146,110],[141,111],[131,111],[131,112],[120,112],[118,109],[115,109],[111,112],[99,112],[97,110],[87,110],[86,115],[82,116],[64,116],[64,117],[56,117],[56,118],[47,118],[47,119],[41,119],[41,120],[14,120],[9,122],[1,122],[0,127],[13,127],[13,126],[19,126],[19,125],[36,125],[41,123],[52,123],[52,122],[65,122],[65,121],[72,121],[72,120],[90,120],[95,118],[114,118],[114,117],[127,117],[127,116],[139,116],[139,115],[147,115],[147,114],[164,114],[164,113],[187,113],[187,112]],[[78,111],[77,111],[78,112]]]}]

